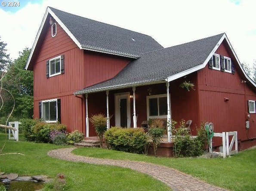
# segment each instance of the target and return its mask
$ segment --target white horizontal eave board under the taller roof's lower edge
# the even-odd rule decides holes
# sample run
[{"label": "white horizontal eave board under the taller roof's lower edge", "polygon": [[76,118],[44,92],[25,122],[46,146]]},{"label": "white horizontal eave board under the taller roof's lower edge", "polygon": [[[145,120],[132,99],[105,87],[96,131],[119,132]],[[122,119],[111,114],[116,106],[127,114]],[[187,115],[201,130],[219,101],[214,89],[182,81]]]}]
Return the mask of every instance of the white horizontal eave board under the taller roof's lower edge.
[{"label": "white horizontal eave board under the taller roof's lower edge", "polygon": [[88,50],[88,51],[96,51],[96,52],[106,53],[106,54],[113,54],[113,55],[117,55],[117,56],[121,56],[121,57],[128,57],[128,58],[141,57],[136,54],[130,54],[130,53],[125,53],[125,52],[120,52],[120,51],[113,51],[113,50],[109,50],[106,48],[94,47],[94,46],[89,46],[89,45],[82,45],[82,49]]}]

